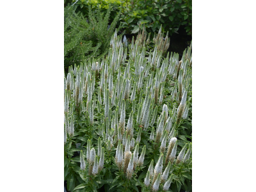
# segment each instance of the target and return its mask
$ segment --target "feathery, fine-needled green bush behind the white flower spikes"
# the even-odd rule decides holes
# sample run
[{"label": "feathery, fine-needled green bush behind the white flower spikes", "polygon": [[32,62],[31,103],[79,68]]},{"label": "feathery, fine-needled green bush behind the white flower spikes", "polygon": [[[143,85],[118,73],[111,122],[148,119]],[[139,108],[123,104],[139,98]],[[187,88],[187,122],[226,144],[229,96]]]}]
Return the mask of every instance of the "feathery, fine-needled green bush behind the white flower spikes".
[{"label": "feathery, fine-needled green bush behind the white flower spikes", "polygon": [[88,7],[88,17],[76,13],[75,6],[64,10],[64,65],[74,65],[89,58],[102,58],[108,52],[118,15],[109,26],[111,6],[106,14]]}]

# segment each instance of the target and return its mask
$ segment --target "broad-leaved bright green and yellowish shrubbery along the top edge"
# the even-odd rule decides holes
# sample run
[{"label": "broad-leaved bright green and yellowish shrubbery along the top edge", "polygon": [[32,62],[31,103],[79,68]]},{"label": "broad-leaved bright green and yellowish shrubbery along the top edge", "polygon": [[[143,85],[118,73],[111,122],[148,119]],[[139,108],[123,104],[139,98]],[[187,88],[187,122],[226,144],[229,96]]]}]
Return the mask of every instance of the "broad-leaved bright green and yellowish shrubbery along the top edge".
[{"label": "broad-leaved bright green and yellowish shrubbery along the top edge", "polygon": [[[192,0],[79,0],[76,6],[87,15],[88,5],[106,12],[109,4],[114,12],[122,12],[120,26],[126,33],[138,33],[145,25],[147,32],[153,35],[162,25],[163,31],[169,31],[169,35],[177,33],[180,26],[192,35]],[[115,17],[115,13],[111,17]]]}]

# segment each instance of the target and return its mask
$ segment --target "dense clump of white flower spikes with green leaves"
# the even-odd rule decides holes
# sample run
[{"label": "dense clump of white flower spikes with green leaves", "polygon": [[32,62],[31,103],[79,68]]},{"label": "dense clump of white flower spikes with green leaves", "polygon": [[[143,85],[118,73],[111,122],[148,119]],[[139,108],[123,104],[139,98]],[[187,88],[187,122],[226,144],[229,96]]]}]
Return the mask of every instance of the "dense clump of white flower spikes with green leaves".
[{"label": "dense clump of white flower spikes with green leaves", "polygon": [[165,41],[115,32],[106,58],[68,68],[68,191],[191,191],[192,46],[179,60]]}]

